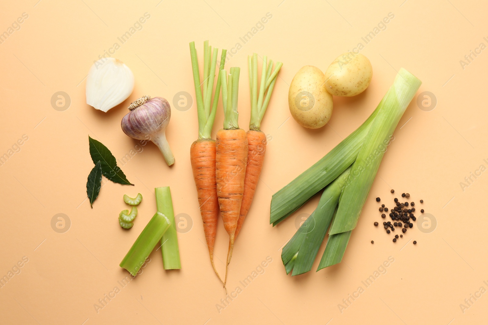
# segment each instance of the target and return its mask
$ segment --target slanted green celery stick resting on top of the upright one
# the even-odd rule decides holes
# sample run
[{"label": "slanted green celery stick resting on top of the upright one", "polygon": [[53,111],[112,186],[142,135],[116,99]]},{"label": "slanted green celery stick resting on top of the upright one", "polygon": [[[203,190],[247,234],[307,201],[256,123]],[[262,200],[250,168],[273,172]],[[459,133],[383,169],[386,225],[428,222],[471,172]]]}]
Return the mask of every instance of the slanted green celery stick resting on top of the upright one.
[{"label": "slanted green celery stick resting on top of the upright one", "polygon": [[142,264],[144,264],[170,225],[171,222],[163,213],[156,212],[123,258],[120,267],[125,268],[130,274],[136,276]]}]

